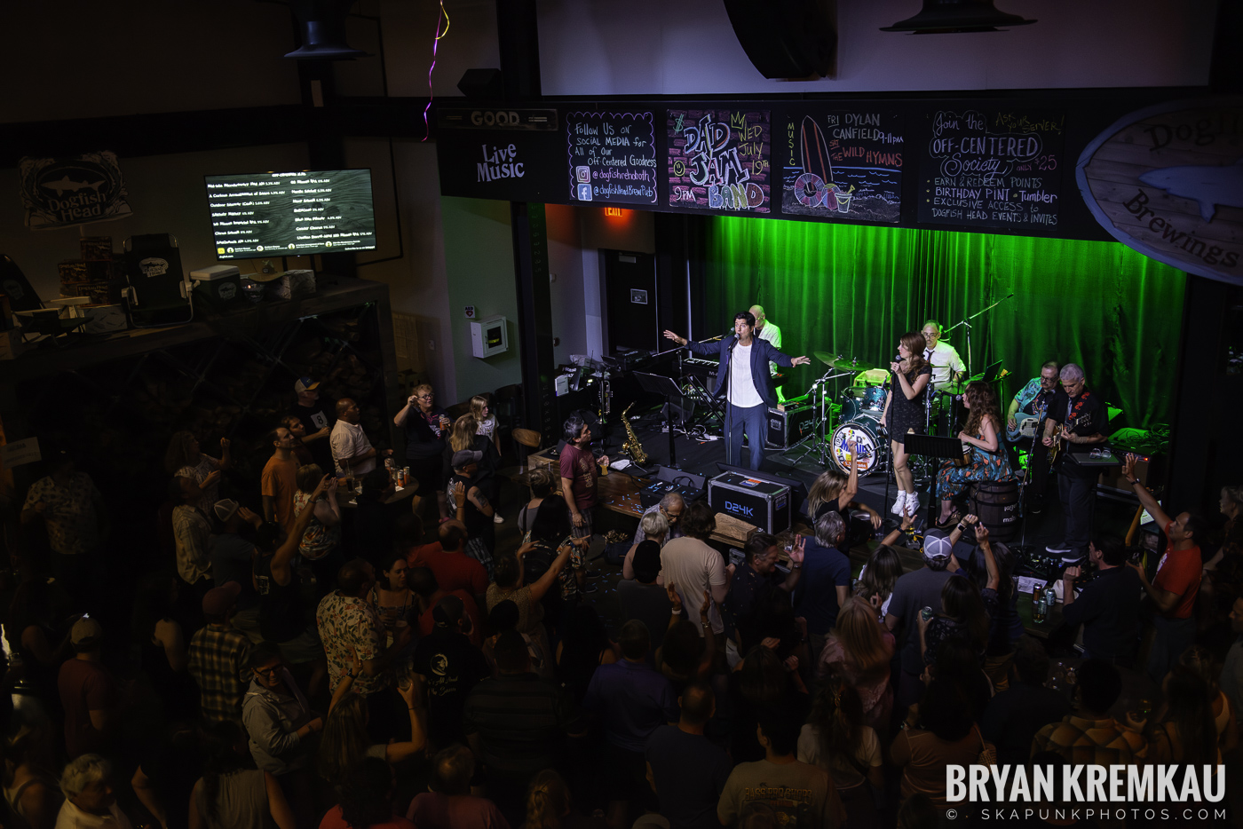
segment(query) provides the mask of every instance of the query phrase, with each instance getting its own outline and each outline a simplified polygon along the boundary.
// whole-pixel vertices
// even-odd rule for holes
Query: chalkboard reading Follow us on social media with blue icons
[[[567,112],[571,201],[656,204],[651,112]]]

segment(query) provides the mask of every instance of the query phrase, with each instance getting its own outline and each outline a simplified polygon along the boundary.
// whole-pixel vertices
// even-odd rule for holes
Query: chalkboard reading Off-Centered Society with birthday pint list
[[[940,109],[920,159],[920,221],[1012,227],[1058,224],[1065,116],[1017,108]]]

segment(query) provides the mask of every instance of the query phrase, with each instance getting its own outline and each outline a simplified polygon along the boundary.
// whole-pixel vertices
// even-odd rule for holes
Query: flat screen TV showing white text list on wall
[[[219,260],[375,250],[369,169],[204,178]]]

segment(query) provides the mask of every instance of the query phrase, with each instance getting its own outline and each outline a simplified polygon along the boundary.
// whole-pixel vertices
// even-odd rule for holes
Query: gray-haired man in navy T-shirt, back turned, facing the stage
[[[794,590],[794,615],[807,619],[808,646],[819,654],[850,595],[850,558],[842,552],[846,524],[829,510],[815,520],[815,536],[800,537],[803,578]]]

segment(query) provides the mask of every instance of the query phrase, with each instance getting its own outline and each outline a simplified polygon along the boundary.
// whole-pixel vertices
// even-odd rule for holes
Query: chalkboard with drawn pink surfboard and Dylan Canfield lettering
[[[792,109],[784,118],[783,214],[897,224],[902,122],[879,108]]]

